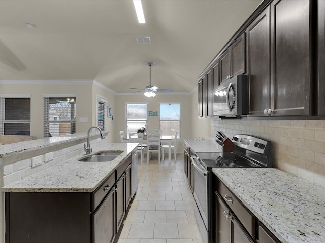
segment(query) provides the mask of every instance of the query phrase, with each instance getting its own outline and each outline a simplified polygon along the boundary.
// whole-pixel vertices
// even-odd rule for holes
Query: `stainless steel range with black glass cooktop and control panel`
[[[245,134],[238,134],[230,141],[222,132],[220,135],[217,135],[219,144],[231,145],[231,152],[198,152],[191,156],[194,166],[193,195],[197,205],[194,213],[204,242],[207,243],[212,242],[213,224],[211,169],[213,167],[273,167],[270,141]],[[230,150],[223,149],[223,151]]]

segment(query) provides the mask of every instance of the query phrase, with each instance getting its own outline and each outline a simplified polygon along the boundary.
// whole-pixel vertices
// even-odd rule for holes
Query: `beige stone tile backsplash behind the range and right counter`
[[[212,119],[212,138],[218,130],[271,140],[276,168],[325,187],[325,121]]]

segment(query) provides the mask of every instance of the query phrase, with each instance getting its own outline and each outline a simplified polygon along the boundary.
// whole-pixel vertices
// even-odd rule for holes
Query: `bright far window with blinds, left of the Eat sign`
[[[139,128],[147,127],[147,103],[125,104],[125,133],[135,133]]]

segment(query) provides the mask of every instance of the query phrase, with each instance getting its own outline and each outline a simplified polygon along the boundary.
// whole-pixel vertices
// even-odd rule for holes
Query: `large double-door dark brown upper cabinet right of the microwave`
[[[309,0],[275,0],[249,25],[249,116],[311,115]]]

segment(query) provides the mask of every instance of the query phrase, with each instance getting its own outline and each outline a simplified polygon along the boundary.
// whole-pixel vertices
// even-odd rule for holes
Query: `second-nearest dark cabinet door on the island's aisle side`
[[[116,233],[120,228],[125,214],[125,177],[116,182]]]

